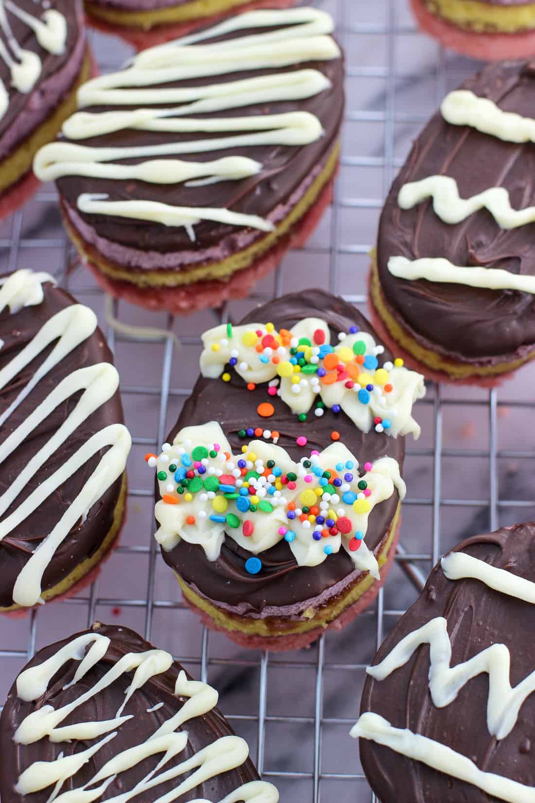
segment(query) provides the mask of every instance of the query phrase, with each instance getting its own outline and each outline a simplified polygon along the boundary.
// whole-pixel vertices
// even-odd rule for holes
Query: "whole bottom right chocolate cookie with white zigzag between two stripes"
[[[436,565],[369,667],[352,731],[382,803],[533,795],[534,605],[533,522]]]

